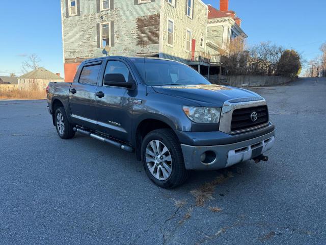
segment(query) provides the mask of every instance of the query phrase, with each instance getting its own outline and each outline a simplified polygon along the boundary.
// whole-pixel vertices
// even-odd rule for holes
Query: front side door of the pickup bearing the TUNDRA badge
[[[106,74],[122,74],[125,81],[134,81],[129,65],[119,59],[106,61],[96,96],[97,130],[121,141],[131,141],[133,100],[137,89],[119,86],[106,86],[103,79]]]

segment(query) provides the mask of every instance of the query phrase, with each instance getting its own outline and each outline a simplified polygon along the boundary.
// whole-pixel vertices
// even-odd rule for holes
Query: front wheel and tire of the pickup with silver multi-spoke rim
[[[155,152],[157,145],[159,150]],[[142,141],[141,153],[145,173],[156,185],[172,189],[188,178],[180,142],[171,129],[148,133]]]

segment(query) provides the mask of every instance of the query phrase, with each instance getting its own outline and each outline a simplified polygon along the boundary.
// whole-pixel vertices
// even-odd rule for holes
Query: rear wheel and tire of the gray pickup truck
[[[68,121],[65,109],[59,107],[55,113],[55,125],[57,133],[62,139],[71,139],[75,136],[75,131],[73,131],[73,125]]]

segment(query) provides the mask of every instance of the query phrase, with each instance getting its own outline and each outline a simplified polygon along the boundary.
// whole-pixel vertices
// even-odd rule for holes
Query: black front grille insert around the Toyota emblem
[[[257,113],[257,120],[251,119],[251,114]],[[257,106],[249,108],[241,108],[233,111],[231,131],[246,130],[257,127],[268,122],[267,106]]]

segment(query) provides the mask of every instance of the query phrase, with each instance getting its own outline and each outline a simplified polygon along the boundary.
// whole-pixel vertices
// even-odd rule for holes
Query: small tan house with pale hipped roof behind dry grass
[[[60,73],[53,73],[43,67],[30,71],[18,78],[19,89],[45,89],[49,82],[64,82]]]

